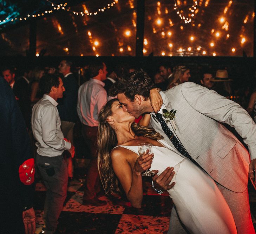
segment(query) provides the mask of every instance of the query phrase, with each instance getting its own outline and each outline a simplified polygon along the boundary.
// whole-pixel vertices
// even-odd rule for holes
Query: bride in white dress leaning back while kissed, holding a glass
[[[117,99],[99,114],[98,168],[107,194],[125,192],[132,206],[143,199],[142,172],[162,173],[168,166],[176,172],[168,190],[180,220],[190,233],[237,233],[231,211],[214,180],[166,143],[155,130],[134,123]],[[138,155],[138,144],[149,142],[153,154]]]

